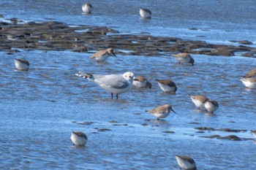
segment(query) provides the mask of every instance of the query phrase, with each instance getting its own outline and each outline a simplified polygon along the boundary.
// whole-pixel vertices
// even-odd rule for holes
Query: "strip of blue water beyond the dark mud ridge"
[[[122,33],[147,32],[222,43],[230,40],[255,42],[255,1],[102,1],[91,2],[91,15],[83,15],[84,1],[7,1],[1,14],[20,20],[57,20],[74,25],[108,26]],[[139,8],[151,9],[151,20],[141,20]],[[191,30],[190,28],[196,28]]]

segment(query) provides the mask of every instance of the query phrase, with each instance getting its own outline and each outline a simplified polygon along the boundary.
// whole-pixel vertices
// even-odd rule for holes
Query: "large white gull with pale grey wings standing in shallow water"
[[[127,91],[132,89],[132,80],[134,77],[134,74],[132,72],[109,75],[87,74],[84,72],[78,72],[78,74],[75,75],[95,82],[101,88],[108,90],[111,93],[111,98],[113,98],[113,93],[115,93],[116,98],[118,98],[118,94],[126,93]]]

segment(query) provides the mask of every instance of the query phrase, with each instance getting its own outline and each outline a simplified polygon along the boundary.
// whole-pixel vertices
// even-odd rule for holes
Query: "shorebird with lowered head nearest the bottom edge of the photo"
[[[181,167],[181,169],[185,170],[196,170],[197,166],[195,166],[195,161],[193,158],[189,156],[181,156],[181,155],[175,155],[176,160],[178,162],[178,166]]]

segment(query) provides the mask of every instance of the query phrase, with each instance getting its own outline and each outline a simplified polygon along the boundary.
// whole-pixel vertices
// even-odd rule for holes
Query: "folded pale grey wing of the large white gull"
[[[94,82],[109,85],[112,88],[127,88],[129,82],[122,75],[110,74],[105,76],[94,75]]]

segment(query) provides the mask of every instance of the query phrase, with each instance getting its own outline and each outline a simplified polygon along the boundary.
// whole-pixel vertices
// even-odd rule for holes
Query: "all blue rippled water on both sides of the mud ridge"
[[[184,39],[255,42],[253,1],[240,3],[239,7],[238,1],[160,2],[94,1],[92,15],[82,14],[83,1],[0,4],[5,19],[57,20],[138,34],[147,31]],[[152,10],[151,20],[140,20],[140,6]],[[192,27],[198,30],[189,30]],[[255,69],[255,58],[238,53],[232,57],[192,55],[195,66],[181,66],[167,55],[117,55],[105,63],[92,61],[90,55],[69,51],[0,52],[0,169],[178,169],[176,154],[192,156],[198,169],[255,169],[256,145],[250,130],[256,129],[256,90],[244,88],[239,80],[249,69]],[[30,61],[29,72],[15,71],[14,58]],[[110,93],[93,82],[75,77],[78,71],[130,71],[146,76],[152,88],[132,89],[111,99]],[[156,79],[176,82],[176,95],[162,93]],[[219,102],[214,115],[192,104],[189,95],[199,94]],[[156,120],[145,112],[162,104],[172,104],[177,114]],[[203,126],[244,131],[196,129]],[[86,147],[72,147],[72,131],[87,134]],[[243,140],[201,137],[217,134],[236,135]]]

